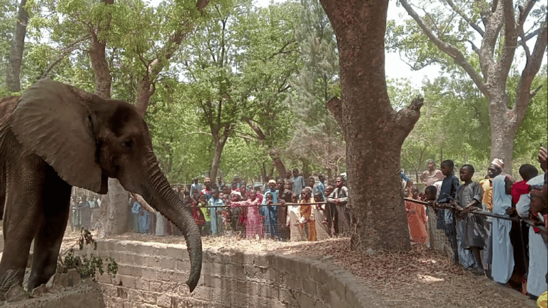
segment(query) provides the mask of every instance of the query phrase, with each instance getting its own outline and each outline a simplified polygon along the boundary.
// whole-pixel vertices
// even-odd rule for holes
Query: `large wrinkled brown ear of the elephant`
[[[96,158],[89,107],[98,96],[41,80],[25,91],[9,118],[15,137],[53,167],[66,183],[107,193],[108,177]]]

